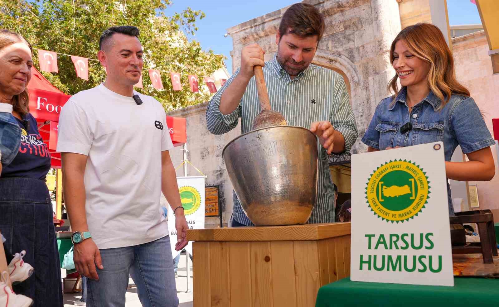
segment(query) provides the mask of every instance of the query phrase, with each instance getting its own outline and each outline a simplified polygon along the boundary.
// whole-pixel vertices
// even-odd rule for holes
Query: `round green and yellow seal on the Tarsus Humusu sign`
[[[419,165],[407,160],[381,164],[366,186],[368,207],[387,222],[414,219],[428,203],[428,177]]]

